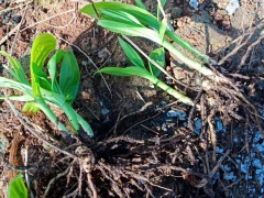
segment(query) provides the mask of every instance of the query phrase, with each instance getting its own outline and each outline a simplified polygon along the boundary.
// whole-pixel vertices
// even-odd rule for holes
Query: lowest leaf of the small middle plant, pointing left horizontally
[[[151,74],[141,67],[105,67],[99,69],[97,73],[113,75],[113,76],[140,76],[143,78],[152,78]]]

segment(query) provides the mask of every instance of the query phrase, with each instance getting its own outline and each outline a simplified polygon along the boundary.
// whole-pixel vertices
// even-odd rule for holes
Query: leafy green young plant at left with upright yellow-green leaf
[[[9,96],[8,98],[25,101],[23,108],[25,113],[43,111],[64,138],[70,135],[70,132],[65,124],[58,121],[47,103],[65,112],[77,134],[85,131],[92,136],[90,125],[72,107],[78,92],[80,79],[79,67],[74,53],[70,51],[56,51],[47,63],[48,74],[44,72],[45,62],[51,53],[55,51],[55,47],[56,38],[52,34],[43,33],[34,40],[30,63],[31,84],[21,64],[8,53],[0,51],[0,54],[6,56],[11,64],[11,68],[7,66],[4,68],[13,78],[0,77],[0,87],[21,91],[22,96]],[[6,96],[1,96],[0,99],[6,99]]]

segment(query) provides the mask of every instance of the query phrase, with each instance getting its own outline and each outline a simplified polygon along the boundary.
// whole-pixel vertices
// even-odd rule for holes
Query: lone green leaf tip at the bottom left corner
[[[19,174],[14,177],[8,188],[8,197],[9,198],[28,198],[28,189],[25,187],[23,177]]]

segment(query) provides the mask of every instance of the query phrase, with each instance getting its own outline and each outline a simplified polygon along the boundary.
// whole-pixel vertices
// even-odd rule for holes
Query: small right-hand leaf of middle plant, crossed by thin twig
[[[165,66],[165,50],[164,47],[156,48],[151,52],[150,57],[155,61],[160,66],[164,67]],[[161,70],[153,65],[151,62],[148,62],[150,70],[152,75],[155,77],[158,77],[161,74]]]

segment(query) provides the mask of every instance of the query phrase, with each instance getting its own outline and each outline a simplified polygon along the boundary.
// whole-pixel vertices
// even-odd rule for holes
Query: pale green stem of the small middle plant
[[[178,99],[180,102],[186,103],[188,106],[194,106],[194,101],[189,97],[183,95],[178,90],[173,89],[172,87],[169,87],[168,85],[166,85],[162,80],[157,79],[156,77],[148,78],[148,79],[154,85],[156,85],[161,89],[165,90],[167,94],[172,95],[174,98]]]

